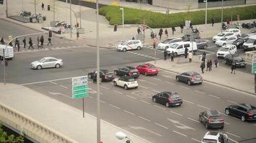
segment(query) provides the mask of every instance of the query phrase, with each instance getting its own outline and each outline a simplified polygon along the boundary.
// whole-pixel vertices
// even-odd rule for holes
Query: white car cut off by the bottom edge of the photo
[[[221,132],[206,132],[201,143],[227,143],[228,140],[227,134]]]

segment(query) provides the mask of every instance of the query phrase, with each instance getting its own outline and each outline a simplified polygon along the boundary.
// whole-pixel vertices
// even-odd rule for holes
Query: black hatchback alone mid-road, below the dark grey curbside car
[[[176,92],[160,92],[152,97],[153,102],[164,104],[166,107],[180,106],[183,100]]]

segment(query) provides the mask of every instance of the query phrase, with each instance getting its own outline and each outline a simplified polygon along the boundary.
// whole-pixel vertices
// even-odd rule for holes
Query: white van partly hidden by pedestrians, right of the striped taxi
[[[196,42],[191,41],[178,41],[173,43],[166,51],[168,54],[174,53],[174,56],[178,56],[180,54],[185,54],[185,48],[188,48],[188,51],[193,51],[196,53],[197,46]]]

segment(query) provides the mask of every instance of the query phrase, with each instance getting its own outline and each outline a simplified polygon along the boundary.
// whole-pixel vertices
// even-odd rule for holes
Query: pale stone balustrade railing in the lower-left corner
[[[50,127],[47,127],[40,122],[35,121],[35,119],[30,119],[24,114],[15,111],[11,107],[0,103],[0,121],[7,125],[7,127],[12,127],[16,132],[19,132],[24,137],[33,139],[35,142],[40,143],[77,143],[69,137],[56,132]]]

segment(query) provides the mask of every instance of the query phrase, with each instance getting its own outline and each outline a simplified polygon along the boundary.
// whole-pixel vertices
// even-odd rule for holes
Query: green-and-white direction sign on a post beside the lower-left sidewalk
[[[88,77],[72,78],[72,97],[73,99],[83,98],[83,117],[84,117],[84,97],[88,97]]]

